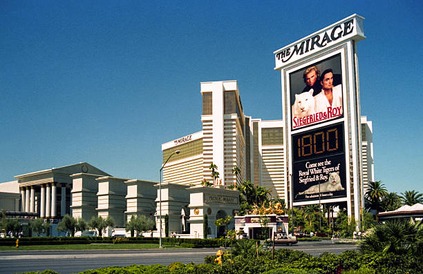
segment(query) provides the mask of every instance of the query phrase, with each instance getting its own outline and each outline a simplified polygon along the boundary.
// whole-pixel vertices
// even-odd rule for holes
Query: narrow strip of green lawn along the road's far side
[[[163,248],[185,248],[162,244]],[[158,248],[158,244],[63,244],[42,246],[0,246],[0,251],[48,251],[48,250],[86,250],[86,249],[148,249]]]

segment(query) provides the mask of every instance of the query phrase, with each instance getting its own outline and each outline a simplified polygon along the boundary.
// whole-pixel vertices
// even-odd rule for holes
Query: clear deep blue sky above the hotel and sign
[[[77,162],[158,181],[161,144],[202,129],[200,81],[281,119],[274,50],[357,13],[375,177],[423,193],[422,2],[295,2],[1,1],[0,182]]]

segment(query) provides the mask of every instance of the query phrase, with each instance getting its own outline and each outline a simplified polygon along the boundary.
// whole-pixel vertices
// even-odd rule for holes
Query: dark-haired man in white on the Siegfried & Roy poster
[[[329,107],[339,108],[339,115],[342,114],[342,86],[333,86],[332,69],[322,72],[320,77],[321,92],[314,97],[316,112],[326,112]]]

